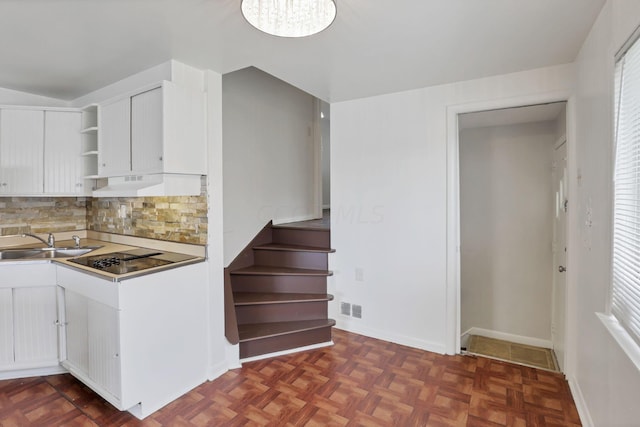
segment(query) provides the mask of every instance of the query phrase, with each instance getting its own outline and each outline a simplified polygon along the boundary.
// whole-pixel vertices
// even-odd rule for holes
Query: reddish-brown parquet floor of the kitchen
[[[332,347],[246,363],[139,421],[70,375],[0,381],[0,425],[578,426],[562,374],[334,330]]]

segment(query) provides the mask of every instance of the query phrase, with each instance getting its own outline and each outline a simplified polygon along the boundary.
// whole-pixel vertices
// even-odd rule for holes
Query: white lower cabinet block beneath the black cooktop
[[[58,266],[62,365],[138,418],[207,380],[206,264],[112,281]]]

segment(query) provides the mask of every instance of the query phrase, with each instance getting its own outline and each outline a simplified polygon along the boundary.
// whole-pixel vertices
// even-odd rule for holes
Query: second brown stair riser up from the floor
[[[327,301],[236,307],[238,325],[327,318]]]

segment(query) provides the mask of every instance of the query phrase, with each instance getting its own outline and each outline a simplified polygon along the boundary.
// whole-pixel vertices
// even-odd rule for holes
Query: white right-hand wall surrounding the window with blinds
[[[571,268],[578,289],[570,295],[577,306],[575,395],[593,425],[606,427],[640,422],[640,372],[595,315],[605,311],[611,283],[614,53],[638,24],[640,2],[609,1],[576,60],[578,241],[577,265]]]

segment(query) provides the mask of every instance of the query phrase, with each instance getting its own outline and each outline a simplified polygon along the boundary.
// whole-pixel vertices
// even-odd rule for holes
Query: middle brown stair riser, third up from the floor
[[[233,292],[273,292],[324,294],[325,276],[231,276]]]

